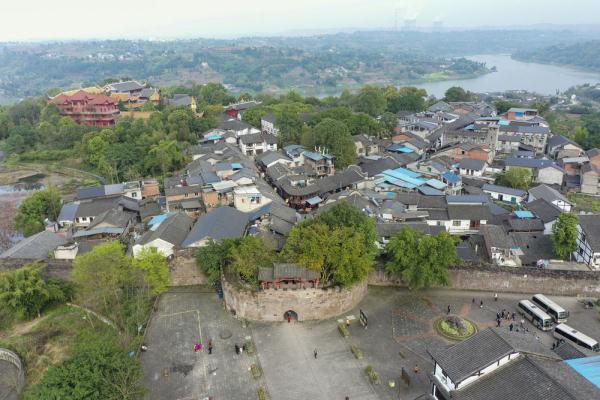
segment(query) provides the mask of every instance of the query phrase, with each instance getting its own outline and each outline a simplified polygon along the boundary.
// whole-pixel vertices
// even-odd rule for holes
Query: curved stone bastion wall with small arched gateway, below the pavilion
[[[367,294],[367,283],[349,289],[267,289],[259,292],[239,290],[222,280],[227,309],[255,321],[283,321],[294,311],[298,321],[322,320],[352,310]]]

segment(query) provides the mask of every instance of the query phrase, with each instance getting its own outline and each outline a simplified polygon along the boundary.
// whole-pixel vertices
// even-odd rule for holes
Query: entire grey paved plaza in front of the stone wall
[[[470,319],[481,330],[496,325],[497,312],[516,312],[518,301],[525,298],[531,295],[500,293],[495,301],[489,292],[431,290],[415,294],[401,288],[370,287],[355,310],[336,319],[282,320],[243,327],[224,311],[212,291],[178,289],[163,295],[148,330],[149,350],[142,356],[148,398],[255,399],[263,386],[272,400],[417,399],[430,389],[427,373],[433,365],[427,350],[452,344],[433,330],[434,321],[447,314],[448,306],[451,314]],[[576,298],[551,298],[571,312],[571,326],[600,338],[597,310],[584,309]],[[359,310],[367,316],[366,329],[357,321]],[[337,330],[346,317],[352,321],[349,338]],[[517,316],[516,324],[519,320]],[[508,324],[502,326],[508,330]],[[528,332],[514,334],[531,335],[541,345],[551,346],[550,332],[539,331],[528,321],[525,325]],[[203,343],[212,338],[214,354],[194,353],[197,338]],[[245,338],[253,339],[256,355],[234,354],[234,344]],[[363,351],[363,359],[353,356],[351,345]],[[259,380],[249,372],[253,363],[263,369]],[[367,379],[364,369],[368,364],[380,374],[381,384],[372,385]],[[410,385],[401,379],[403,369]]]

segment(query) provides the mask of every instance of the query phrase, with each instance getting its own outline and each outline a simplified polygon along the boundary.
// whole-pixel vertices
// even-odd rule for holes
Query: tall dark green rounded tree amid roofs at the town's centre
[[[314,127],[313,136],[316,146],[335,156],[338,168],[346,168],[356,160],[356,145],[343,122],[325,118]]]

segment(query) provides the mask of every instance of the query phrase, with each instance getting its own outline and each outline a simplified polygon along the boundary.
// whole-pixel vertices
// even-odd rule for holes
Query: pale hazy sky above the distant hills
[[[419,26],[598,24],[598,0],[1,0],[0,41],[235,37]]]

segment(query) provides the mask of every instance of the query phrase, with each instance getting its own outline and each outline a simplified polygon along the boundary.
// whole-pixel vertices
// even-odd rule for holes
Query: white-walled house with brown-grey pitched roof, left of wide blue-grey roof
[[[150,248],[155,248],[165,257],[172,256],[181,247],[193,224],[194,220],[185,213],[171,215],[136,241],[132,248],[133,257],[138,257],[144,249]]]

